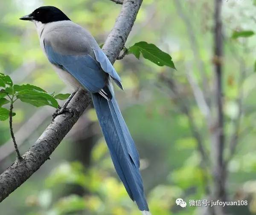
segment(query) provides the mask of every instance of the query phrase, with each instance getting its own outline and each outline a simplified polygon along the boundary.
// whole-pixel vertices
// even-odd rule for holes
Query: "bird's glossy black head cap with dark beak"
[[[31,14],[21,17],[20,20],[35,20],[45,24],[70,19],[56,7],[43,6],[35,9]]]

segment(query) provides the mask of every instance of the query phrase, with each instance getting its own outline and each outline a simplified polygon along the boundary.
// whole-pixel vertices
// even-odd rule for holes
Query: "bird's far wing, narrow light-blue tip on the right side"
[[[115,83],[121,89],[123,89],[122,84],[121,84],[121,78],[117,74],[117,72],[116,72],[115,68],[113,67],[113,65],[111,64],[111,62],[108,60],[108,57],[105,55],[105,53],[102,52],[101,49],[93,49],[93,52],[95,54],[96,60],[100,63],[100,66],[102,67],[102,69],[113,78]]]

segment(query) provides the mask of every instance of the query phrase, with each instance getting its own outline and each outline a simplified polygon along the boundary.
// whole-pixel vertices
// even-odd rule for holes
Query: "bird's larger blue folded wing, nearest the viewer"
[[[50,44],[44,47],[49,61],[73,75],[88,91],[96,93],[106,86],[108,75],[89,54],[60,54]]]

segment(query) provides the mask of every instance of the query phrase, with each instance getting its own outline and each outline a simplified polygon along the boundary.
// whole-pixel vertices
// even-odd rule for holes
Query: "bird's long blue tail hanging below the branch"
[[[113,94],[113,93],[112,93]],[[130,198],[141,211],[148,211],[148,204],[140,175],[140,159],[134,140],[125,124],[114,95],[106,100],[93,94],[93,104],[107,142],[113,164]],[[150,214],[148,212],[148,214]]]

